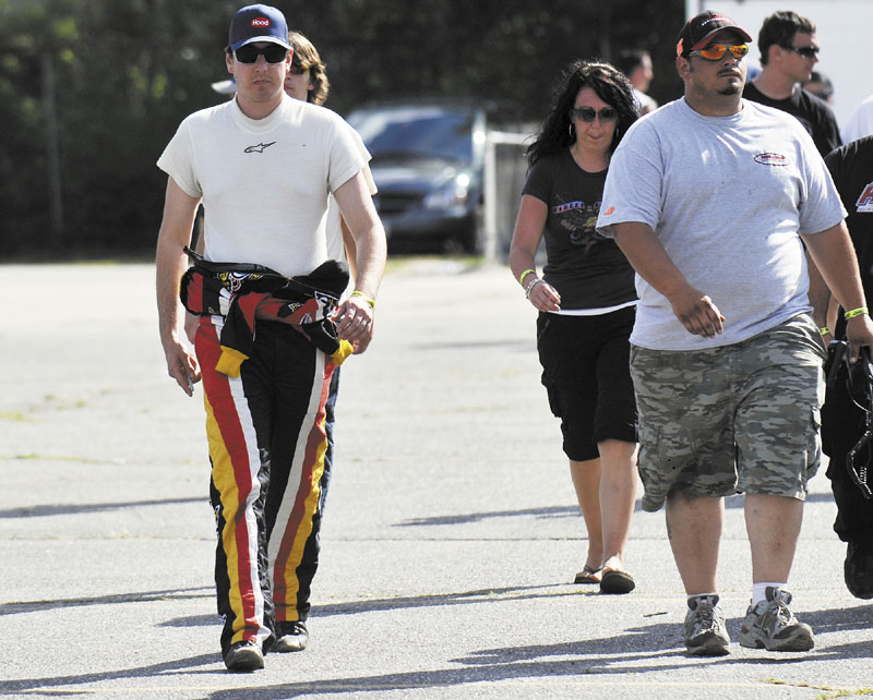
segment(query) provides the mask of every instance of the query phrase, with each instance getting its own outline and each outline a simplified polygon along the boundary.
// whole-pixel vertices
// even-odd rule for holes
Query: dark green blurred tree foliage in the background
[[[0,0],[0,255],[153,249],[166,186],[155,160],[188,113],[225,99],[211,83],[227,77],[227,25],[242,4]],[[328,107],[340,113],[436,95],[492,99],[507,117],[538,120],[564,64],[636,46],[653,52],[659,101],[681,87],[681,0],[275,4],[319,47]]]

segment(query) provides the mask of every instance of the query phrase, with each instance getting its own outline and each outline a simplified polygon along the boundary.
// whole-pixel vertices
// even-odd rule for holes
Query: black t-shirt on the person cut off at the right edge
[[[846,224],[861,268],[861,282],[868,303],[873,301],[873,136],[865,136],[838,148],[825,158],[842,206],[849,213]],[[841,333],[840,317],[835,333]]]

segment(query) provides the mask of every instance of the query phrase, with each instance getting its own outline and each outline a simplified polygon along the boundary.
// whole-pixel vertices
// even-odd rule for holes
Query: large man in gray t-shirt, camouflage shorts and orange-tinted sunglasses
[[[805,243],[847,311],[851,355],[873,325],[845,210],[793,118],[742,99],[748,32],[703,12],[677,40],[683,99],[634,124],[612,157],[598,231],[636,270],[631,370],[643,508],[667,505],[692,654],[728,653],[718,605],[723,496],[745,493],[752,604],[744,647],[805,651],[788,574],[820,461],[824,347]]]

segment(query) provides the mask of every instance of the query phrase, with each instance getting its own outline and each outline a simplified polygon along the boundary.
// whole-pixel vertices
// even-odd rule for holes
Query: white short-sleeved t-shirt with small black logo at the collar
[[[236,99],[194,112],[157,165],[203,198],[206,260],[266,265],[291,277],[327,260],[327,196],[368,160],[338,114],[284,95],[260,120],[246,117]]]

